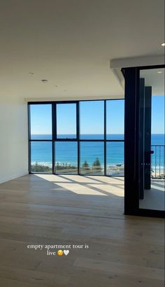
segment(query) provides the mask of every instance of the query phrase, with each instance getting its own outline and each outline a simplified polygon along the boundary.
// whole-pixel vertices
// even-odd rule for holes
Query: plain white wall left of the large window
[[[0,95],[0,183],[27,173],[27,103]]]

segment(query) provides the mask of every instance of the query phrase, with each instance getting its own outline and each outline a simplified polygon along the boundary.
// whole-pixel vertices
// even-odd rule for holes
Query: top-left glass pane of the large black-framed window
[[[31,139],[52,139],[52,105],[30,105]]]

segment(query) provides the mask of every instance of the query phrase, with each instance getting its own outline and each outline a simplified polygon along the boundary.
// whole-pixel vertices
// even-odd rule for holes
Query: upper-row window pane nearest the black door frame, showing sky
[[[106,101],[106,139],[124,139],[124,99]]]

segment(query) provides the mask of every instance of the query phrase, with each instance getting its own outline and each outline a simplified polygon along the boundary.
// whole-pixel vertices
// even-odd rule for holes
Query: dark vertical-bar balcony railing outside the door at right
[[[165,178],[165,145],[152,145],[154,153],[151,155],[151,177],[155,179]]]

